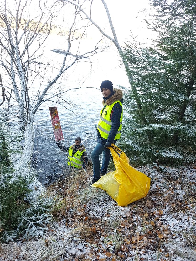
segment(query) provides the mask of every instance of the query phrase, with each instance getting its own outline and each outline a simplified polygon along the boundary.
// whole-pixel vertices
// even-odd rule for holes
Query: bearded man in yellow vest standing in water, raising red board
[[[88,159],[84,145],[81,143],[82,139],[80,137],[75,138],[75,144],[65,147],[60,141],[56,144],[58,147],[65,152],[68,152],[68,166],[76,169],[86,169]]]

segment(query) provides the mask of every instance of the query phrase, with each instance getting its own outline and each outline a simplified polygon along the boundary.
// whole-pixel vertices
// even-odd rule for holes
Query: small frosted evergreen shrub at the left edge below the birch
[[[32,191],[29,184],[35,171],[25,168],[15,170],[9,162],[9,153],[14,153],[9,140],[6,121],[0,117],[0,241],[13,242],[19,237],[43,237],[50,223],[50,208],[53,200],[40,197],[29,202]]]

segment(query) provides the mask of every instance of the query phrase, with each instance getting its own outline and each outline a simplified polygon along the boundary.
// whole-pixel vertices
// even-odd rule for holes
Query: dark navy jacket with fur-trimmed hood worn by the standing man
[[[114,92],[112,92],[108,97],[103,97],[103,105],[104,108],[106,105],[111,105],[113,102],[120,100],[121,103],[123,103],[123,99],[122,99],[122,90],[121,89],[114,89]],[[102,111],[104,111],[104,108]],[[110,129],[110,133],[108,135],[107,140],[112,142],[112,143],[116,143],[116,140],[114,140],[116,133],[120,127],[120,118],[121,118],[121,113],[122,113],[122,106],[120,105],[119,102],[115,103],[113,108],[112,108],[112,112],[110,114],[110,119],[112,122],[111,125],[111,129]],[[103,139],[104,143],[106,143],[106,139]],[[97,137],[97,142],[98,143],[103,143],[101,138]]]

